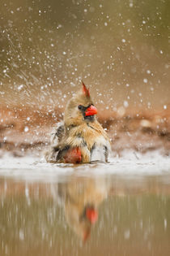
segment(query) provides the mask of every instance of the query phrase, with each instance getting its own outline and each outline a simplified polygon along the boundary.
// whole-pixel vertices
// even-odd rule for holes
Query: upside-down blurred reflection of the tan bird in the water
[[[107,194],[104,179],[77,178],[68,184],[59,184],[58,196],[64,206],[66,221],[83,241],[90,236],[98,219],[98,206]]]

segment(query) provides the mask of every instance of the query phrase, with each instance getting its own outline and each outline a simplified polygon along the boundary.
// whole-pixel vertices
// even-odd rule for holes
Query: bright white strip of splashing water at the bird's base
[[[53,180],[54,177],[116,175],[164,175],[170,174],[170,157],[159,152],[137,154],[124,152],[121,157],[110,158],[109,163],[64,164],[45,163],[43,158],[14,158],[5,155],[0,159],[0,176],[25,180]]]

